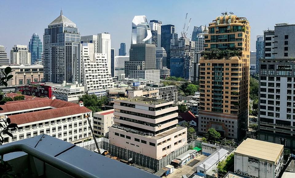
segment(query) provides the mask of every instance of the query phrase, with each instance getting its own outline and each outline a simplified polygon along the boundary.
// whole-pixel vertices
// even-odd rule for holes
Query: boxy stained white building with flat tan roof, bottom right
[[[234,172],[247,177],[277,178],[284,146],[247,138],[234,151]]]

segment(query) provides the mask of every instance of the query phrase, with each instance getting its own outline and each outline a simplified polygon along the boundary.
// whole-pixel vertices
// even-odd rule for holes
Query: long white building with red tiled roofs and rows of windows
[[[83,102],[75,104],[53,97],[10,101],[1,105],[1,108],[2,116],[9,117],[11,123],[18,124],[17,129],[10,129],[13,138],[3,135],[4,143],[40,134],[48,134],[71,143],[92,139],[87,120],[88,117],[92,121],[92,112],[83,106]]]

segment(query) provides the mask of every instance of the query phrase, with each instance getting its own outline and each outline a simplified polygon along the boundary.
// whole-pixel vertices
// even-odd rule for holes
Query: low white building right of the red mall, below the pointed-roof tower
[[[85,94],[84,86],[77,81],[74,83],[66,83],[63,81],[62,85],[51,87],[51,93],[59,100],[76,102],[79,97]]]

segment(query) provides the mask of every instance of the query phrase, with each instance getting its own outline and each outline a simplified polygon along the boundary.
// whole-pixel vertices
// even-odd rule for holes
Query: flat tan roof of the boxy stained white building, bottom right
[[[280,144],[247,138],[238,146],[234,153],[277,162],[283,149],[284,146]]]

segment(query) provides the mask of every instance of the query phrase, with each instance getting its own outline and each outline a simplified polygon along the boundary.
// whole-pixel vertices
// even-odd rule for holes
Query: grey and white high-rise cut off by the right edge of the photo
[[[258,138],[294,149],[295,24],[264,31],[264,59],[259,59]],[[292,91],[293,90],[293,91]]]

